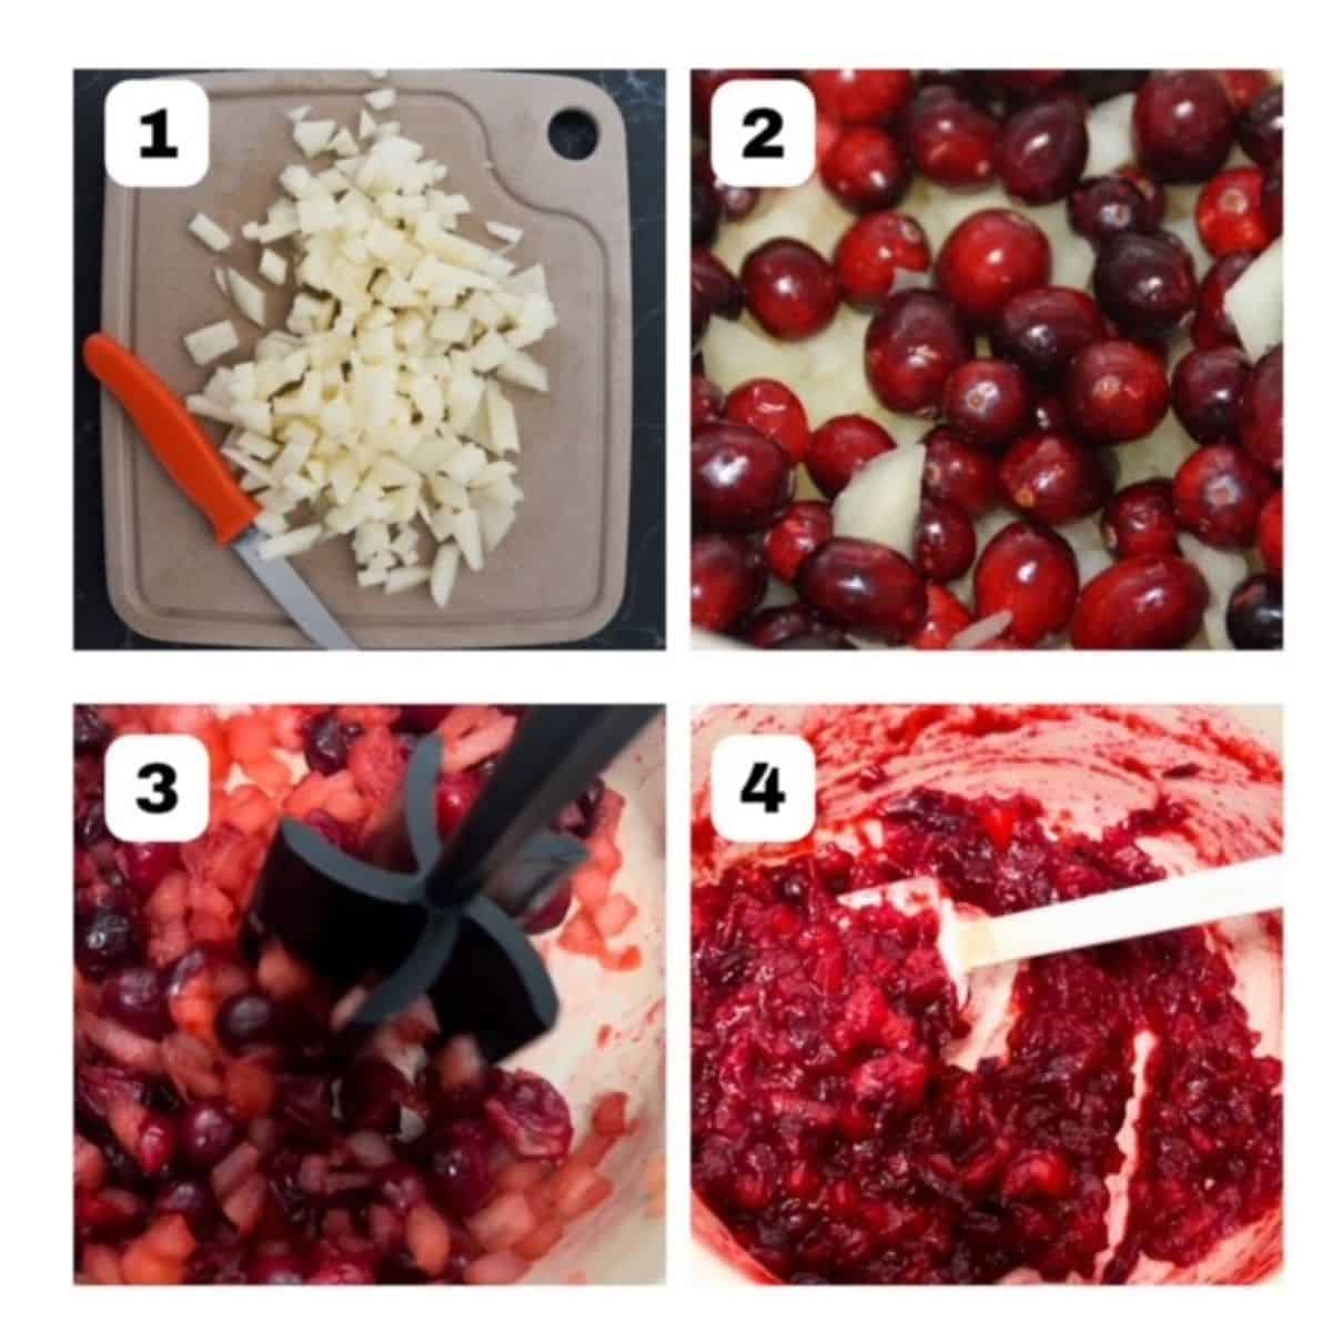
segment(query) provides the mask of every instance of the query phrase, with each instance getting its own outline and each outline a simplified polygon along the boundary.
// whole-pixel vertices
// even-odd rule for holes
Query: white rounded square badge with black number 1
[[[107,93],[107,174],[131,189],[182,189],[208,174],[208,93],[189,79],[127,79]]]

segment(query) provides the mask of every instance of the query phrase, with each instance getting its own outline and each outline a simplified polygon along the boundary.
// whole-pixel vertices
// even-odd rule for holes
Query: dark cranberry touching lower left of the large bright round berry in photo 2
[[[898,292],[864,334],[864,373],[890,412],[928,416],[975,341],[956,305],[938,292]]]

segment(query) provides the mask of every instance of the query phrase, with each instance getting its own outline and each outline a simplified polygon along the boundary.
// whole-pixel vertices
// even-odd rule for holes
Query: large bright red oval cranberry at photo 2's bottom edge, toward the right
[[[1130,555],[1078,598],[1068,638],[1092,650],[1183,647],[1203,626],[1207,582],[1179,555]]]

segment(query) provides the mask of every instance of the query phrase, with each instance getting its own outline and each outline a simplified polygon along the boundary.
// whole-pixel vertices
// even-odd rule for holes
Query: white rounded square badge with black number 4
[[[713,827],[727,842],[814,831],[814,750],[799,735],[727,735],[713,750]]]

